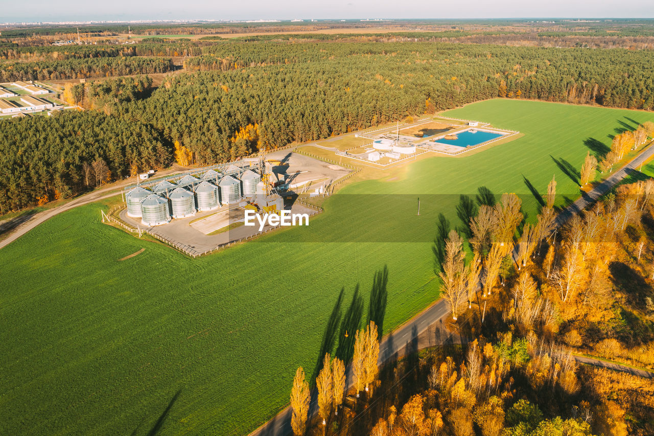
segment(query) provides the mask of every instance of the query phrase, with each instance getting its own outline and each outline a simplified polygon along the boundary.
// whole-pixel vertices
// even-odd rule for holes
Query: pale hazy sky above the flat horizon
[[[0,22],[654,18],[653,0],[0,0]]]

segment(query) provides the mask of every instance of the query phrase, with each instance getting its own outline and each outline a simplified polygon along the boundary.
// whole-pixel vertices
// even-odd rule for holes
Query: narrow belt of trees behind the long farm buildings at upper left
[[[0,63],[0,82],[166,73],[172,69],[174,69],[174,65],[170,58],[136,56],[44,62],[2,62]]]

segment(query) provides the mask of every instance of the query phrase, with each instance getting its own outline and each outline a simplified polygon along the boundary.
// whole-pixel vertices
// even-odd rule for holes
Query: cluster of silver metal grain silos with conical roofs
[[[143,225],[156,226],[168,223],[171,218],[190,217],[197,211],[212,210],[220,204],[234,204],[243,197],[254,196],[261,176],[245,170],[239,179],[209,170],[202,180],[185,175],[177,183],[164,180],[152,191],[135,187],[126,195],[127,214],[140,217]]]

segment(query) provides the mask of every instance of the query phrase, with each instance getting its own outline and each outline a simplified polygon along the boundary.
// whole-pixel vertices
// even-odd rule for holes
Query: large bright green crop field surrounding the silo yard
[[[543,193],[556,174],[559,202],[572,200],[579,191],[553,158],[579,168],[584,141],[598,149],[621,122],[654,120],[516,100],[446,115],[525,136],[353,183],[308,228],[209,257],[188,259],[103,225],[98,204],[0,250],[0,433],[141,435],[169,406],[162,434],[249,433],[286,405],[296,367],[313,371],[341,287],[343,312],[357,283],[366,312],[373,274],[388,265],[385,331],[438,297],[430,240],[439,211],[456,224],[458,194],[481,185],[525,194],[533,218],[525,178]]]

